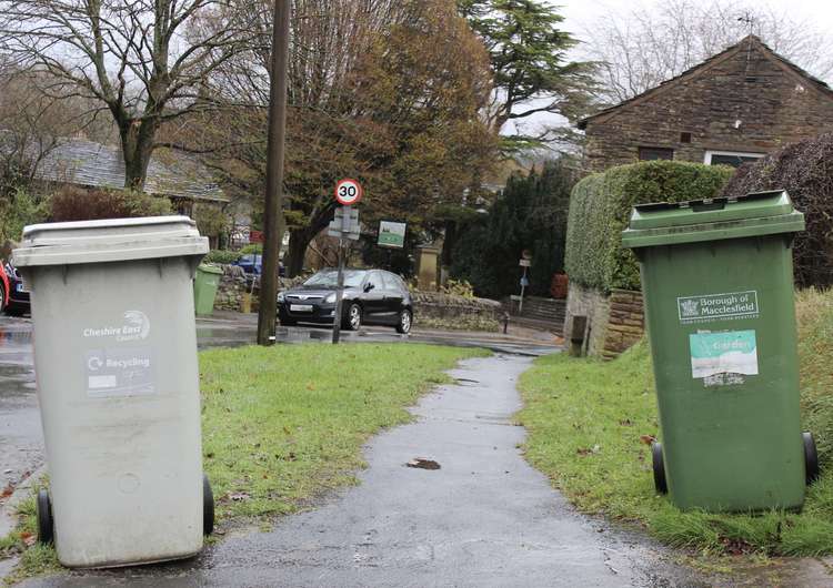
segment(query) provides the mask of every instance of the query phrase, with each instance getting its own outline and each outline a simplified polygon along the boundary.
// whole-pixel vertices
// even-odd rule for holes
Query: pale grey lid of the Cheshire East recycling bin
[[[16,267],[34,267],[201,256],[208,249],[188,216],[148,216],[29,225],[13,258]]]

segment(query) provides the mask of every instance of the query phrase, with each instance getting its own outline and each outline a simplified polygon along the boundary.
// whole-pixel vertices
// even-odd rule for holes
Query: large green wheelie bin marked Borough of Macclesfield
[[[679,508],[799,509],[819,474],[802,433],[786,192],[634,207],[662,445],[654,483]]]

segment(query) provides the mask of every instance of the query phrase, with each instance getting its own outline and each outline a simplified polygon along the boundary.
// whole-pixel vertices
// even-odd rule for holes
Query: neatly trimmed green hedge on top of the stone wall
[[[603,292],[640,290],[636,257],[622,247],[633,205],[714,197],[733,172],[723,165],[648,161],[583,179],[570,197],[564,260],[570,281]]]

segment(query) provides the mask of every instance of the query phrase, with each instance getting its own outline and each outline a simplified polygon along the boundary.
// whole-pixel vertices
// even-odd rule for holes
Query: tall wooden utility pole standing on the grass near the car
[[[283,146],[287,136],[287,62],[291,0],[274,0],[271,79],[269,87],[269,144],[267,194],[263,209],[263,267],[260,275],[258,344],[274,344],[278,307],[278,257],[283,239]]]

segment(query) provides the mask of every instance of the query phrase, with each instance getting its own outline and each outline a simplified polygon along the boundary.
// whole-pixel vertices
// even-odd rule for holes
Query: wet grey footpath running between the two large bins
[[[639,535],[576,514],[518,448],[531,359],[470,359],[367,447],[361,484],[200,558],[26,582],[97,586],[706,586]],[[440,469],[405,464],[418,457]]]

